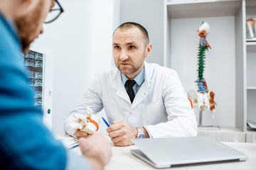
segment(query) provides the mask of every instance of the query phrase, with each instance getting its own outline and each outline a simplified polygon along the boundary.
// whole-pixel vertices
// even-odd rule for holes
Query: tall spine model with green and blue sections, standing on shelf
[[[188,91],[188,98],[193,103],[193,108],[198,108],[199,111],[210,111],[212,112],[212,118],[214,118],[216,103],[214,101],[213,91],[209,91],[206,79],[203,78],[203,71],[206,64],[205,52],[210,48],[206,40],[210,26],[207,22],[203,23],[198,29],[198,35],[200,36],[199,52],[198,52],[198,79],[195,81],[198,86],[198,90]],[[211,48],[210,48],[211,49]]]

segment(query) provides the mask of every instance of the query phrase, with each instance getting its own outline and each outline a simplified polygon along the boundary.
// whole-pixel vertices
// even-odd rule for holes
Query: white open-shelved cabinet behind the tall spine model
[[[207,39],[212,50],[206,52],[204,77],[208,89],[215,92],[218,108],[215,118],[204,113],[203,123],[220,129],[200,129],[198,135],[220,141],[256,142],[256,131],[247,130],[247,119],[256,121],[256,42],[246,41],[246,19],[255,17],[256,1],[170,0],[164,8],[164,60],[176,69],[185,91],[196,88],[196,29],[202,21],[210,24]]]

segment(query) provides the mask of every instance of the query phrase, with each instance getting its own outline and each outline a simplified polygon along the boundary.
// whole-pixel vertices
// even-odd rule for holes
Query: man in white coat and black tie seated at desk
[[[116,146],[132,145],[134,138],[196,136],[196,116],[178,74],[145,62],[151,49],[144,27],[138,23],[119,26],[113,34],[117,68],[95,77],[68,116],[65,132],[87,135],[71,128],[70,123],[74,113],[85,113],[90,107],[95,113],[105,108],[111,123],[107,132]]]

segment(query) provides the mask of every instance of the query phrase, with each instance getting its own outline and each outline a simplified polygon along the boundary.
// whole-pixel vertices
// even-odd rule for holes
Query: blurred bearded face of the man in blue
[[[55,0],[38,0],[38,4],[26,16],[16,18],[14,21],[21,38],[23,52],[27,52],[29,45],[43,33],[43,21]]]

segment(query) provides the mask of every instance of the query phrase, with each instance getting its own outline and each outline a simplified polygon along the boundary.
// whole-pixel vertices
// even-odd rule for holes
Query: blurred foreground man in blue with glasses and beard
[[[103,169],[112,156],[101,134],[79,140],[85,159],[65,150],[43,125],[42,111],[33,106],[33,90],[18,55],[43,33],[55,4],[60,6],[55,0],[0,0],[1,169]]]

